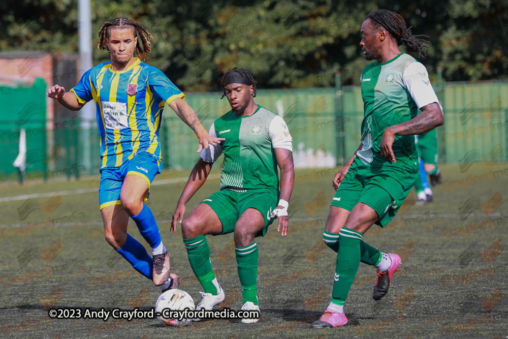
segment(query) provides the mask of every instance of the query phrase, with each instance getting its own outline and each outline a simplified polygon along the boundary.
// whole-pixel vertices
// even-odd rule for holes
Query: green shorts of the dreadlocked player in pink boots
[[[335,193],[332,206],[351,211],[362,202],[376,211],[376,224],[384,227],[397,214],[418,176],[418,163],[403,163],[383,166],[366,165],[358,158],[351,165]]]

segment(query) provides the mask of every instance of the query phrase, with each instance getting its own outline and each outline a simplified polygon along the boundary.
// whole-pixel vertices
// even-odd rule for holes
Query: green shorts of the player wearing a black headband
[[[202,203],[210,206],[217,214],[223,226],[221,234],[232,233],[235,230],[236,221],[247,208],[259,210],[265,220],[265,227],[261,236],[265,236],[268,226],[275,220],[275,218],[270,218],[270,215],[277,207],[278,199],[279,195],[268,189],[248,190],[242,193],[222,190],[213,193]]]

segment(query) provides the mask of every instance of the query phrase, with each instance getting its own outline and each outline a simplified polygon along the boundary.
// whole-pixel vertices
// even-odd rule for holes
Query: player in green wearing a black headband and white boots
[[[279,218],[277,231],[287,234],[288,201],[295,177],[292,138],[280,116],[254,102],[255,84],[244,69],[234,68],[224,75],[221,85],[232,110],[214,121],[210,135],[225,140],[202,153],[173,214],[171,232],[176,230],[179,220],[190,266],[204,289],[196,310],[211,310],[225,297],[212,272],[205,235],[234,232],[242,310],[259,311],[259,253],[254,238],[264,236],[276,217]],[[182,222],[185,203],[205,182],[221,153],[224,153],[224,165],[220,172],[220,191],[194,207]],[[256,321],[242,319],[247,323]]]

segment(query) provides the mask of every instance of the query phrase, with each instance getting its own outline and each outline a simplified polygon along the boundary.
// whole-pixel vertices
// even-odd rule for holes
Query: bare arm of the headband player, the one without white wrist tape
[[[207,163],[203,159],[199,159],[192,172],[190,172],[189,178],[185,187],[183,188],[183,192],[180,195],[180,199],[178,199],[178,203],[176,205],[175,212],[173,213],[173,221],[171,222],[171,230],[173,233],[176,231],[176,222],[178,221],[180,224],[182,223],[183,216],[185,215],[185,204],[194,196],[196,192],[203,186],[212,169],[213,163]]]

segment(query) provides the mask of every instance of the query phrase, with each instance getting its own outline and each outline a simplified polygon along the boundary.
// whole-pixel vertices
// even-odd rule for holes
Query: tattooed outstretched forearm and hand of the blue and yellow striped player
[[[201,152],[203,148],[208,148],[208,145],[210,144],[215,145],[220,143],[220,140],[226,140],[224,138],[210,136],[203,125],[201,125],[201,121],[192,107],[190,107],[182,98],[176,98],[170,102],[169,107],[175,111],[176,115],[178,115],[178,117],[182,119],[182,121],[185,122],[185,124],[187,124],[194,133],[196,133],[199,140],[198,153]]]

